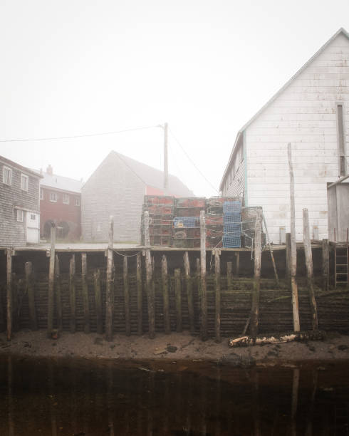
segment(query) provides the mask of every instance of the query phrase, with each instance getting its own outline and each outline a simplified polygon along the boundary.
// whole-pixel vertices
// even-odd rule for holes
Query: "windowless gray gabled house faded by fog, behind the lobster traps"
[[[108,241],[110,215],[114,217],[114,241],[140,242],[142,203],[145,195],[193,197],[177,177],[112,151],[81,190],[83,241]]]

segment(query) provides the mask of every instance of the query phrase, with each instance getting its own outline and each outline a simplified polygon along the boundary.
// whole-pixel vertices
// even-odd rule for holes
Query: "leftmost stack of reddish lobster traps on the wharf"
[[[145,195],[143,212],[149,212],[149,234],[151,246],[172,246],[172,222],[175,197]],[[142,243],[144,229],[142,226]]]

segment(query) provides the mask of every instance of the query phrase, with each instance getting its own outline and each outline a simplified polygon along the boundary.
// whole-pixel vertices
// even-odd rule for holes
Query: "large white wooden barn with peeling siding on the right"
[[[349,35],[343,28],[239,130],[224,170],[222,195],[262,206],[271,240],[289,232],[287,146],[291,143],[296,237],[302,209],[314,239],[345,241],[349,227]],[[330,187],[333,182],[342,181]]]

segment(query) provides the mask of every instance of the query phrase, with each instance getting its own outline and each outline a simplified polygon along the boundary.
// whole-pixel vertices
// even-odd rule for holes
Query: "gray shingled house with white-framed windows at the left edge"
[[[0,156],[0,246],[40,242],[38,172]]]

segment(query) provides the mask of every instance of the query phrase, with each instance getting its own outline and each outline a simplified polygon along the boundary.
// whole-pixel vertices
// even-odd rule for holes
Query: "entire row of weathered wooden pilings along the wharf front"
[[[309,237],[308,225],[308,211],[303,210],[304,222],[304,248],[306,254],[306,266],[308,276],[308,289],[312,309],[313,329],[318,328],[318,318],[316,310],[316,300],[313,289],[313,264],[311,255],[311,241]],[[258,210],[256,217],[256,239],[254,247],[254,282],[251,299],[251,316],[246,323],[244,331],[249,325],[250,335],[256,337],[259,327],[259,292],[260,292],[260,277],[261,277],[261,223],[262,214]],[[206,280],[206,232],[204,211],[200,216],[201,225],[201,249],[200,259],[197,259],[197,289],[199,289],[199,319],[200,319],[200,334],[202,340],[207,339],[207,280]],[[296,271],[291,269],[291,265],[295,265],[296,253],[291,250],[291,235],[286,235],[286,264],[290,271],[290,284],[292,291],[293,302],[293,328],[295,331],[300,330],[299,315],[298,315],[298,293],[296,283]],[[136,279],[137,279],[137,333],[142,334],[142,254],[145,256],[145,291],[147,297],[147,321],[148,331],[150,338],[155,337],[155,281],[154,281],[154,261],[151,255],[151,248],[149,246],[149,215],[145,213],[145,249],[139,251],[137,254],[136,262]],[[53,331],[54,313],[56,309],[56,323],[58,330],[62,329],[62,306],[61,306],[61,284],[60,276],[60,262],[56,254],[56,229],[51,229],[51,249],[49,253],[49,271],[48,271],[48,317],[47,317],[47,333],[51,336]],[[270,248],[270,246],[269,246]],[[271,257],[273,259],[272,250]],[[239,253],[239,252],[238,252]],[[7,338],[10,341],[12,335],[13,313],[12,304],[14,301],[12,289],[12,256],[13,251],[7,250],[7,286],[6,286],[6,303],[7,303]],[[221,269],[220,269],[220,250],[214,249],[212,255],[214,256],[214,335],[217,342],[221,341]],[[115,268],[114,268],[114,250],[113,250],[113,217],[110,217],[110,231],[107,255],[107,268],[106,268],[106,286],[105,286],[105,336],[108,341],[113,338],[113,313],[114,313],[114,281],[115,281]],[[194,301],[193,301],[193,281],[190,271],[189,254],[184,251],[184,274],[186,281],[186,294],[187,294],[187,310],[189,319],[189,328],[191,333],[194,333]],[[329,246],[328,240],[323,244],[323,265],[327,269],[325,275],[325,285],[328,286],[328,260],[329,260]],[[274,264],[275,266],[275,264]],[[162,303],[163,303],[163,318],[165,333],[170,333],[170,295],[169,295],[169,276],[167,274],[167,257],[165,254],[162,256]],[[231,262],[227,262],[227,284],[231,281]],[[176,329],[178,332],[182,331],[182,292],[181,292],[181,275],[180,270],[175,269],[175,308],[176,308]],[[278,275],[276,273],[276,282],[278,282]],[[293,275],[292,275],[293,274]],[[33,330],[37,328],[36,321],[36,306],[34,299],[34,286],[31,262],[25,264],[25,288],[28,294],[28,311],[30,318],[30,326]],[[100,286],[100,271],[96,270],[93,274],[94,291],[95,291],[95,316],[96,327],[98,333],[103,333],[103,303]],[[83,325],[85,333],[90,331],[90,313],[89,313],[89,299],[88,299],[88,281],[87,281],[87,256],[85,253],[81,254],[81,289],[82,289],[82,303],[83,303]],[[123,257],[123,294],[125,301],[125,333],[130,335],[130,289],[128,282],[128,256]],[[71,256],[69,264],[69,303],[71,306],[70,313],[70,331],[75,332],[75,255]]]

